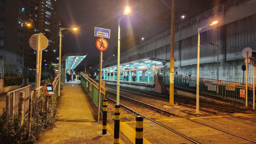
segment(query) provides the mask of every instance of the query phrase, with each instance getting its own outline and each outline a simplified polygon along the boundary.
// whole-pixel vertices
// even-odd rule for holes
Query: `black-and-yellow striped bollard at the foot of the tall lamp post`
[[[115,105],[114,144],[119,144],[120,105]]]

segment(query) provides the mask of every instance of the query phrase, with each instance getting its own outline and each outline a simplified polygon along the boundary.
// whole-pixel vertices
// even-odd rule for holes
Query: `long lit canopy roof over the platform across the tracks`
[[[151,67],[151,65],[156,66],[164,66],[167,62],[170,62],[170,60],[163,60],[159,58],[143,58],[140,60],[134,60],[127,63],[120,64],[120,69],[138,69],[140,67]],[[102,71],[110,72],[117,69],[117,65],[114,66],[108,66],[105,68],[102,68]],[[99,69],[98,69],[99,70]]]

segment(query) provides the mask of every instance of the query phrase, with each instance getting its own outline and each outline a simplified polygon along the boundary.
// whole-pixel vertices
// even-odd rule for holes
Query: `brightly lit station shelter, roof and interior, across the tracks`
[[[159,70],[161,75],[165,75],[164,68],[167,67],[165,66],[167,62],[170,62],[170,60],[163,60],[159,58],[143,58],[140,60],[122,63],[120,64],[120,81],[123,81],[124,75],[127,76],[127,74],[128,81],[132,81],[132,75],[135,72],[135,81],[151,83],[154,81],[154,72],[157,75]],[[103,80],[117,80],[117,65],[102,68],[102,71]],[[127,79],[125,79],[125,81],[126,80]]]

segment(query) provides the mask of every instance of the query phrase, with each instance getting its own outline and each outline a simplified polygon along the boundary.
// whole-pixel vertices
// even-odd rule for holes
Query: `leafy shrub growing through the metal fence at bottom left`
[[[48,110],[47,119],[45,118],[46,112],[41,110],[41,101],[38,101],[38,109],[31,119],[31,132],[29,138],[27,135],[28,115],[25,116],[22,126],[19,125],[20,118],[18,115],[10,115],[8,118],[8,128],[6,128],[5,111],[3,110],[3,114],[0,115],[0,144],[35,144],[36,140],[39,138],[40,133],[57,120],[55,117],[57,113],[56,96],[53,97],[52,101],[52,105]]]

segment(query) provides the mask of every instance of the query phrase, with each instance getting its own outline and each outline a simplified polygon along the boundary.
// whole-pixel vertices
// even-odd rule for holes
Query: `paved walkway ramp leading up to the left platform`
[[[113,144],[113,135],[100,135],[102,123],[96,122],[97,112],[80,83],[64,83],[57,101],[59,120],[41,134],[38,144]]]

